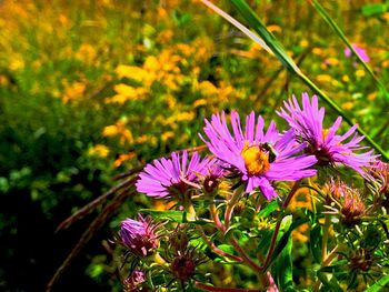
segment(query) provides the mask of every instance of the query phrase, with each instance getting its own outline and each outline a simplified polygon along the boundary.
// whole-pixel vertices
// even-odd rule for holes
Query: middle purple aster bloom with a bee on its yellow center
[[[246,118],[245,132],[241,130],[239,114],[231,111],[232,134],[227,127],[226,115],[222,112],[213,114],[211,121],[206,120],[205,133],[209,141],[209,150],[221,161],[231,168],[246,182],[246,192],[251,192],[259,187],[263,195],[270,200],[277,197],[271,181],[296,181],[316,174],[316,170],[309,169],[317,160],[312,155],[297,155],[305,145],[297,145],[292,133],[280,135],[275,122],[271,122],[268,131],[263,132],[265,121],[251,112]]]

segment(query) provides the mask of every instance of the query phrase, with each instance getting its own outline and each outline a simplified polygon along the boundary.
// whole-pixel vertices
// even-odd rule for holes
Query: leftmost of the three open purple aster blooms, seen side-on
[[[161,158],[144,167],[137,181],[138,192],[150,197],[171,198],[186,194],[190,189],[188,182],[197,183],[200,175],[205,175],[208,169],[216,163],[215,159],[200,159],[194,152],[188,164],[188,152],[173,152],[171,159]]]

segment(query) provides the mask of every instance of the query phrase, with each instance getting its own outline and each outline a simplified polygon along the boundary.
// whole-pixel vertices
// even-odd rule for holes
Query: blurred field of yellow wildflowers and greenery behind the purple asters
[[[215,2],[239,19],[229,1]],[[313,7],[248,2],[302,71],[388,150],[388,99]],[[322,4],[388,84],[388,6]],[[211,113],[255,110],[269,121],[303,91],[199,1],[0,1],[0,290],[42,291],[99,210],[54,234],[57,225],[112,188],[114,175],[200,145]],[[151,203],[129,198],[54,291],[120,291],[107,240]]]

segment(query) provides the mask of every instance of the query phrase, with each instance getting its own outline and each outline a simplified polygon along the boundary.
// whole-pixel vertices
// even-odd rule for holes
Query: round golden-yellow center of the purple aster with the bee
[[[245,160],[245,167],[251,175],[262,174],[270,168],[269,155],[258,145],[250,147],[248,142],[245,142],[241,155]]]

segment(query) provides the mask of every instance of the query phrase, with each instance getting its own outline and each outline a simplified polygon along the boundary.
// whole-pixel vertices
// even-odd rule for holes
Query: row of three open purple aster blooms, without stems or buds
[[[337,134],[341,117],[330,128],[323,127],[325,108],[319,108],[316,95],[310,99],[303,93],[302,109],[293,97],[278,114],[290,129],[279,132],[273,121],[266,129],[263,118],[256,118],[255,112],[242,125],[238,112],[231,111],[230,130],[225,112],[213,114],[200,133],[213,158],[201,159],[194,152],[187,165],[189,157],[183,151],[156,160],[140,173],[138,191],[157,198],[190,197],[193,184],[206,181],[209,191],[219,178],[235,174],[247,193],[258,188],[271,200],[278,197],[273,182],[298,181],[313,177],[316,167],[339,164],[365,175],[362,168],[376,158],[372,150],[363,152],[357,125],[341,135]]]

